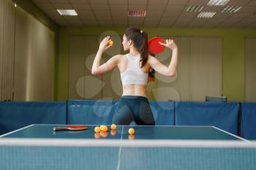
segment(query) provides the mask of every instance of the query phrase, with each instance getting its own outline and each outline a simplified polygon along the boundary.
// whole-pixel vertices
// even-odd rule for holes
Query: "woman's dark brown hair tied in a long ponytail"
[[[139,28],[129,27],[124,31],[127,40],[132,40],[133,45],[140,52],[141,66],[145,66],[148,61],[148,34]]]

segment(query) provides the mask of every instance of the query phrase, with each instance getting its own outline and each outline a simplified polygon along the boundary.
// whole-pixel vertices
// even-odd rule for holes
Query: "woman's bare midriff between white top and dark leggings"
[[[123,85],[122,96],[146,96],[146,85]]]

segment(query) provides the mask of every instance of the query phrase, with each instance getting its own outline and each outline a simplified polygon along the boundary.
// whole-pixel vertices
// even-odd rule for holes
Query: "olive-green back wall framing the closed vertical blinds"
[[[148,38],[159,34],[176,36],[222,36],[222,93],[229,101],[245,100],[245,38],[256,36],[256,29],[197,29],[197,28],[141,28]],[[59,28],[59,55],[57,76],[57,100],[68,98],[69,36],[100,35],[104,31],[124,34],[124,28],[72,27]],[[182,56],[181,56],[182,57]],[[154,100],[151,89],[156,83],[148,84],[148,98]]]

